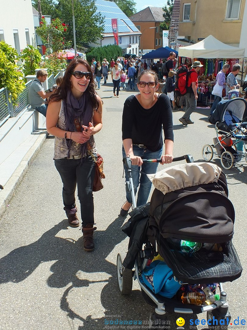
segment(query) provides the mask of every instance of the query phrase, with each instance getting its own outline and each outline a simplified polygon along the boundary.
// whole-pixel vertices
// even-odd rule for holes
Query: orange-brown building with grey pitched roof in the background
[[[132,15],[129,19],[141,31],[140,49],[143,51],[158,49],[163,46],[160,23],[164,21],[160,7],[147,7]]]

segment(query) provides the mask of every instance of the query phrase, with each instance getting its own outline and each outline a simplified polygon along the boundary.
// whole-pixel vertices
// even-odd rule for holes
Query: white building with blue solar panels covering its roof
[[[123,49],[123,54],[139,54],[139,39],[141,32],[131,22],[131,20],[122,12],[115,2],[96,0],[97,10],[104,19],[104,33],[102,39],[97,44],[90,44],[91,47],[101,47],[116,44],[112,32],[112,18],[118,18],[118,44]]]

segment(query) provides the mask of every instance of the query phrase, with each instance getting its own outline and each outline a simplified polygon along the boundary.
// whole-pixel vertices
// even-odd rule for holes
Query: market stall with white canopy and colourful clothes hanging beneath
[[[229,72],[231,72],[233,65],[239,63],[239,59],[244,57],[244,52],[244,48],[226,45],[209,35],[194,45],[179,47],[178,56],[180,64],[188,65],[194,60],[199,60],[203,64],[198,80],[200,97],[202,97],[202,94],[206,97],[210,96],[211,103],[211,91],[216,82],[217,73],[225,63],[229,63]]]

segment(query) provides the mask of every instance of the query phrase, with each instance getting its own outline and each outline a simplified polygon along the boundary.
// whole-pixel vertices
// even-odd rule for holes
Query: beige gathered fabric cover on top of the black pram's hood
[[[165,195],[171,191],[217,182],[221,168],[210,163],[179,164],[155,174],[148,174],[154,187]]]

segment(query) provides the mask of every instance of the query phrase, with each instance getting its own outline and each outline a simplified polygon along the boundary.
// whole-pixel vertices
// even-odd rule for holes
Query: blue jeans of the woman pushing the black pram
[[[124,147],[122,148],[123,157],[126,156]],[[147,148],[139,148],[138,146],[133,146],[133,153],[135,156],[142,157],[144,159],[155,159],[155,158],[161,158],[162,155],[162,148],[158,151],[150,151]],[[137,188],[140,184],[138,194],[137,194],[137,202],[136,206],[141,206],[147,203],[152,182],[149,180],[146,174],[154,174],[157,171],[158,163],[143,163],[141,168],[136,165],[132,165],[131,168],[132,171],[132,179],[133,179],[133,185],[134,185],[134,192],[136,195]],[[127,175],[127,170],[124,166],[125,170],[125,181],[128,182],[129,178]],[[142,171],[144,173],[141,173],[139,171]],[[146,174],[145,174],[146,173]],[[126,187],[126,200],[131,203],[131,195],[128,192],[127,185]]]

